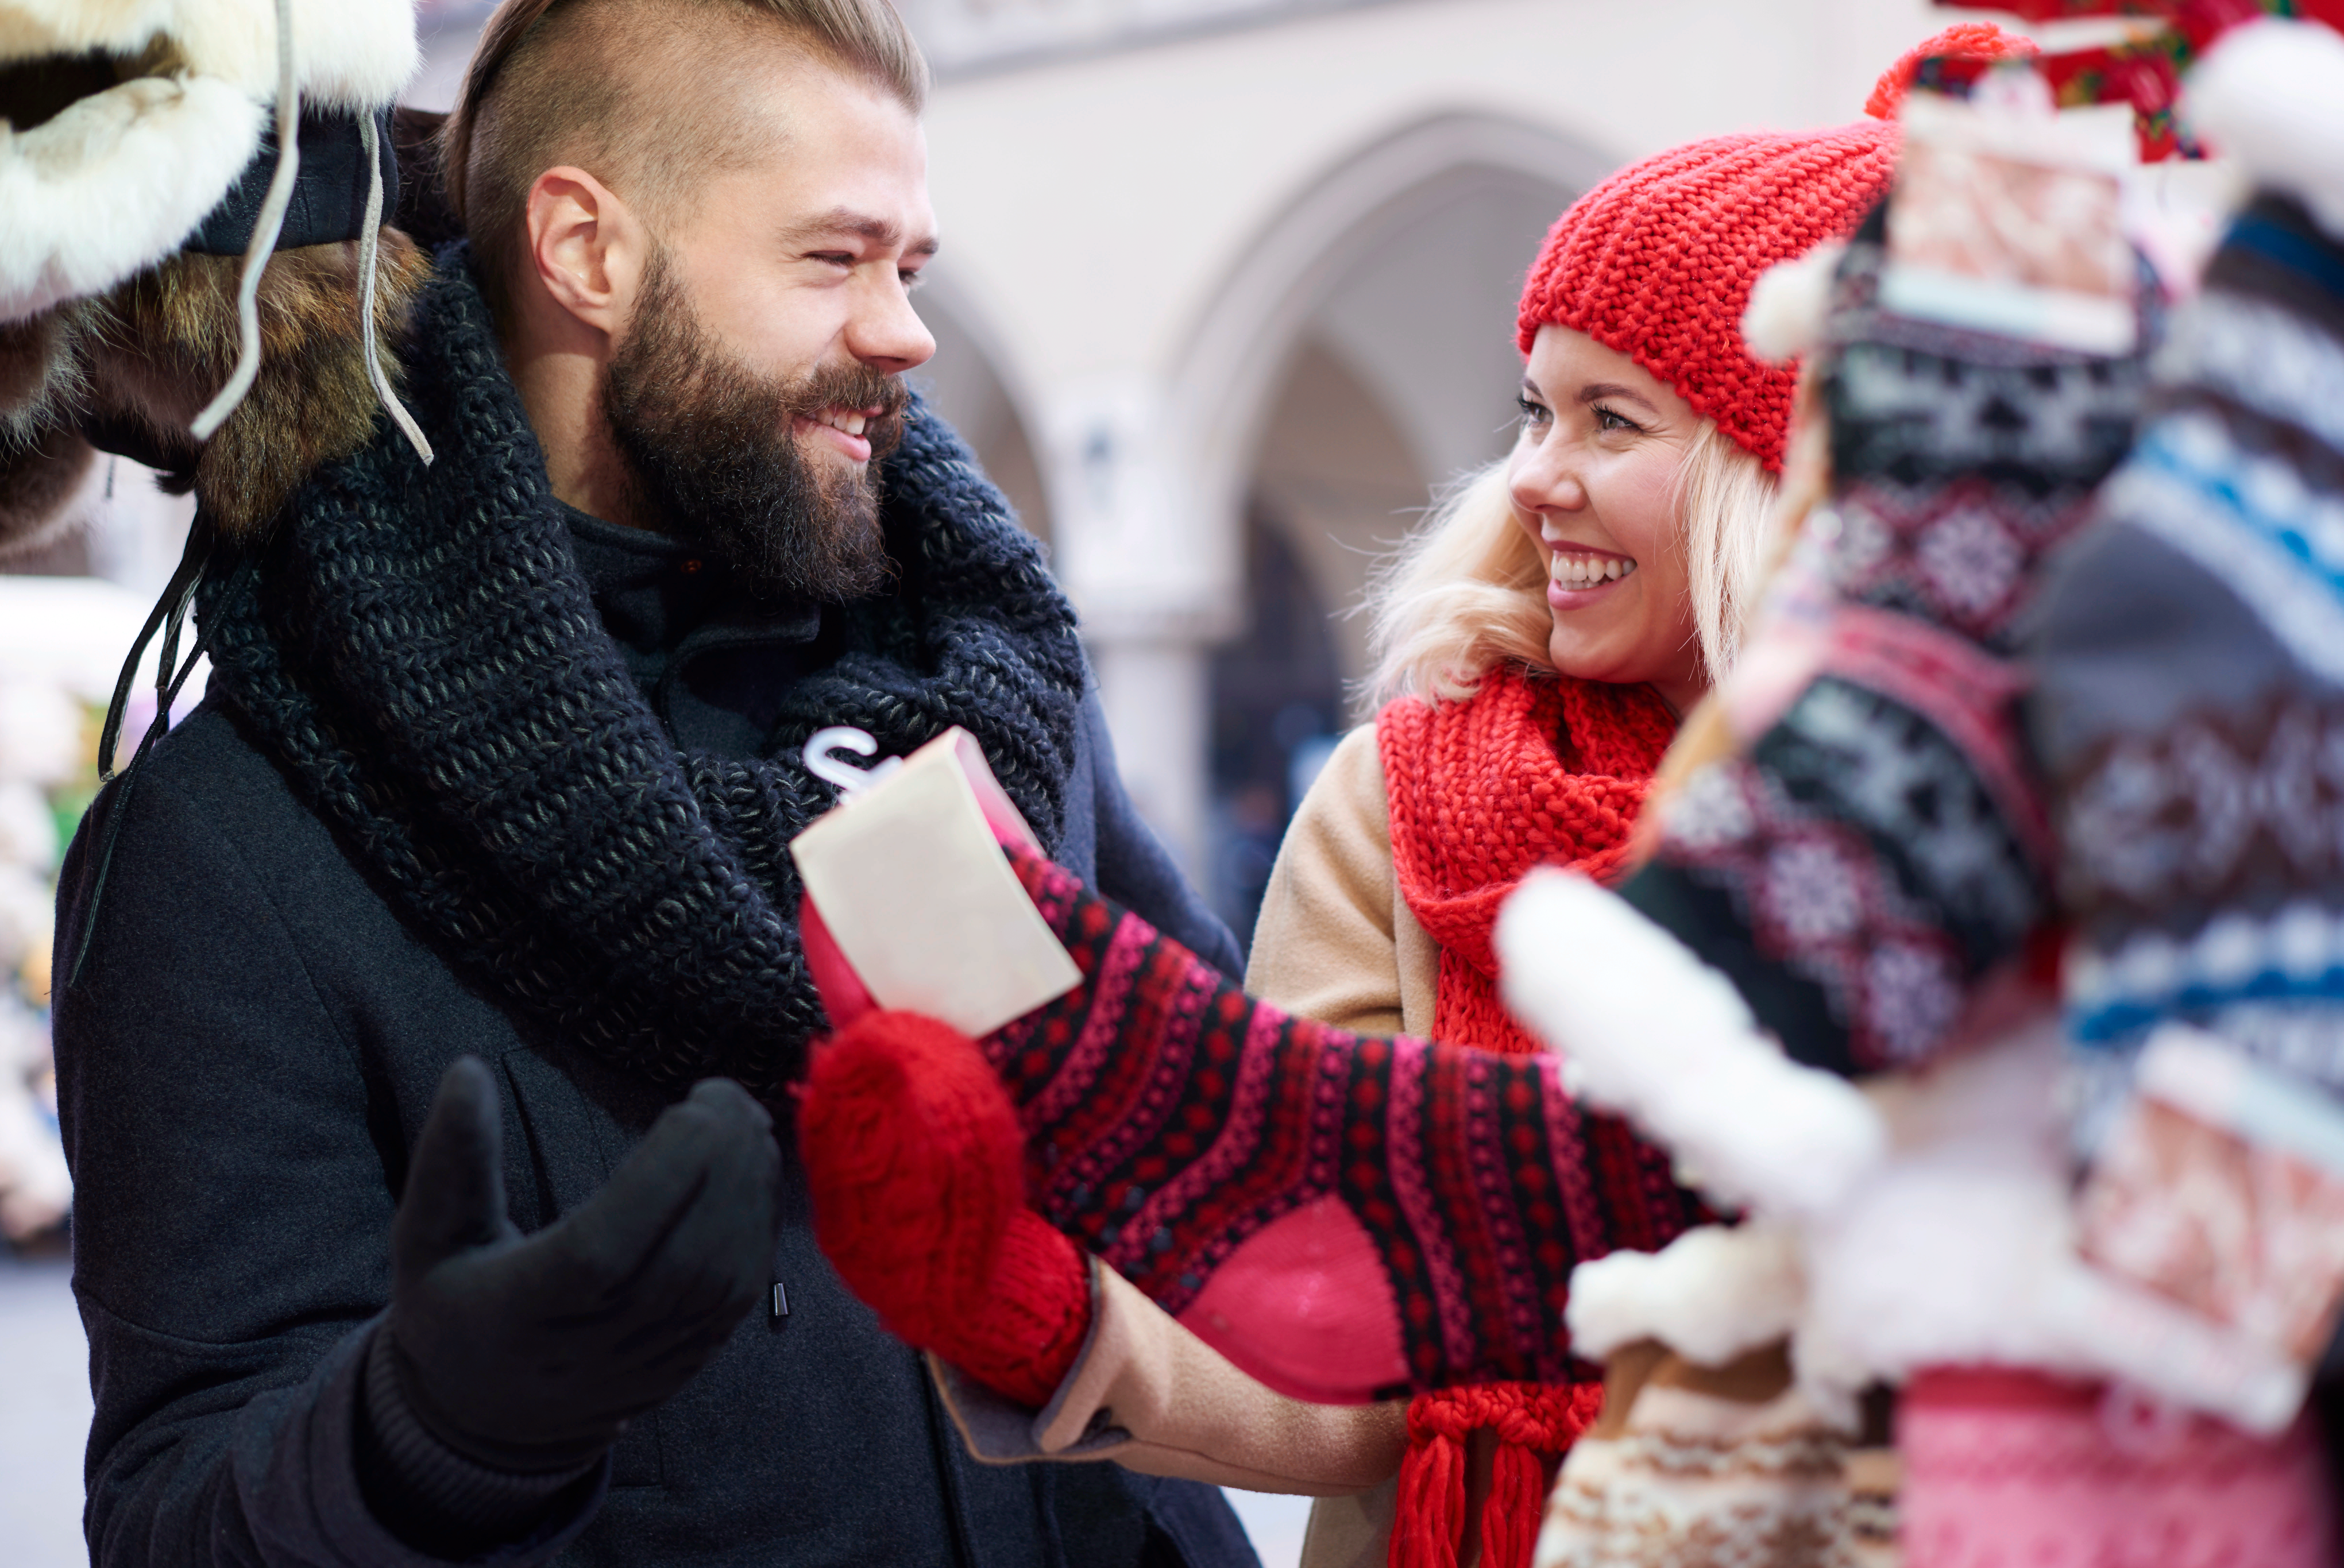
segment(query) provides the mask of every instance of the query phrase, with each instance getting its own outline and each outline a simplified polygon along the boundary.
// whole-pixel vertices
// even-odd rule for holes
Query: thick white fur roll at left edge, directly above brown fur
[[[0,124],[0,321],[159,263],[258,145],[260,108],[209,80],[138,77],[30,131]]]

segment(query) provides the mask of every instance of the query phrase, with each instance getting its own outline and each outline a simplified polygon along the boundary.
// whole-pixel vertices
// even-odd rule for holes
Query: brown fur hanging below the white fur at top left
[[[63,347],[49,401],[7,424],[19,443],[82,420],[141,429],[152,438],[143,459],[192,469],[197,499],[220,534],[258,537],[293,490],[375,434],[382,408],[359,340],[356,260],[352,241],[270,258],[260,274],[260,375],[202,448],[188,422],[237,363],[241,255],[173,255],[98,300],[56,312]],[[431,260],[398,230],[382,230],[377,265],[375,330],[398,382],[396,347]]]

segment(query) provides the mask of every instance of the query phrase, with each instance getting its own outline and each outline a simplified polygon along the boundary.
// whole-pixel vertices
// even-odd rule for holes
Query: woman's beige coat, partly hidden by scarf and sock
[[[1254,933],[1247,989],[1289,1013],[1399,1034],[1432,1024],[1439,952],[1392,881],[1376,731],[1343,738],[1303,799]],[[938,1364],[980,1460],[1116,1460],[1144,1474],[1320,1498],[1303,1568],[1383,1568],[1406,1402],[1273,1395],[1163,1308],[1095,1268],[1090,1343],[1041,1411]]]

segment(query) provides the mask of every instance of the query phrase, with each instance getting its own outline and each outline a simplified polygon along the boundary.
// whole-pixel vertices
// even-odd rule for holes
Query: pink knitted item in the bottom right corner
[[[1934,1369],[1896,1411],[1906,1568],[2325,1568],[2309,1418],[2262,1441],[2030,1371]]]

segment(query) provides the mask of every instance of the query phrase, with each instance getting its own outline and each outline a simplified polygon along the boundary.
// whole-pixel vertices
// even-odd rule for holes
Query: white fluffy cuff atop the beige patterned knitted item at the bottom
[[[1697,1226],[1660,1252],[1615,1252],[1573,1268],[1563,1317],[1573,1355],[1608,1357],[1657,1338],[1688,1362],[1725,1366],[1786,1338],[1805,1303],[1791,1230]]]

